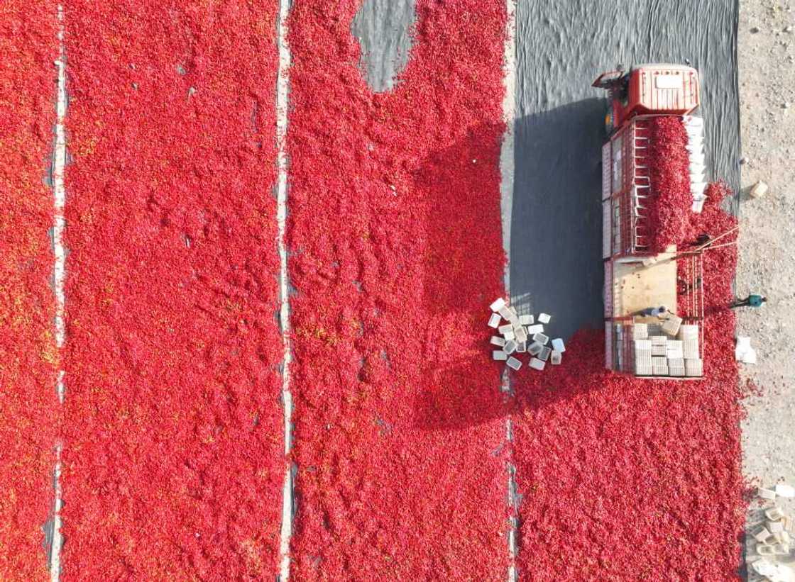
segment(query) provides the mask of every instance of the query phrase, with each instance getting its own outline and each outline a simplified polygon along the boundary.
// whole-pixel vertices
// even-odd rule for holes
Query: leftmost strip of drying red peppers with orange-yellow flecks
[[[57,432],[52,190],[55,5],[0,10],[0,579],[48,580]]]

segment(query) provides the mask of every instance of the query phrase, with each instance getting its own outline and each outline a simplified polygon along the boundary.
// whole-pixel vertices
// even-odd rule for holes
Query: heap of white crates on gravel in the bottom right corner
[[[757,529],[753,531],[755,555],[751,554],[748,544],[746,561],[754,572],[770,582],[793,582],[795,570],[787,563],[792,561],[795,549],[795,521],[776,504],[776,499],[795,498],[795,488],[778,484],[773,489],[759,488],[758,495],[766,501],[767,507],[762,507],[758,517],[750,520],[751,523],[757,522]]]

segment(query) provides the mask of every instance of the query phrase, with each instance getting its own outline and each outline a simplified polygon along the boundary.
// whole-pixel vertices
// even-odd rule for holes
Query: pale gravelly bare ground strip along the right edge
[[[739,313],[758,364],[743,365],[761,394],[746,403],[744,470],[760,484],[795,483],[795,2],[742,0],[739,92],[743,193],[737,294],[766,295]],[[757,180],[770,187],[749,198]]]

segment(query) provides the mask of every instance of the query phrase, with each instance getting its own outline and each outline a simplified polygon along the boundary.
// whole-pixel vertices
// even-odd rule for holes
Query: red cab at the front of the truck
[[[605,126],[610,134],[636,115],[687,115],[700,102],[698,71],[681,64],[642,64],[608,71],[593,82],[610,92]]]

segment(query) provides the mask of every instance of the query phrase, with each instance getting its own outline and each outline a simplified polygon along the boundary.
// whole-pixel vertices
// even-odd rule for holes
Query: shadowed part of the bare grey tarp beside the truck
[[[603,112],[590,98],[516,121],[510,295],[566,340],[603,321]]]

